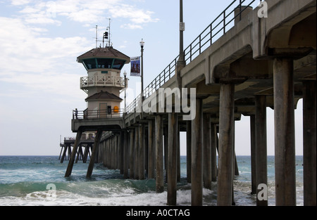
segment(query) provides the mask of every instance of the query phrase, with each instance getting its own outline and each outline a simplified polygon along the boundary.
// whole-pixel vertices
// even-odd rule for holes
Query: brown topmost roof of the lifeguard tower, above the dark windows
[[[82,63],[82,60],[87,58],[117,58],[125,60],[125,64],[130,63],[130,57],[116,50],[112,46],[107,46],[105,48],[93,48],[92,50],[77,57],[77,62]]]

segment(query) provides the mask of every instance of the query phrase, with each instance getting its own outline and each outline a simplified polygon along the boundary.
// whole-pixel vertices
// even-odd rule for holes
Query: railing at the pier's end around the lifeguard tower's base
[[[109,110],[73,110],[73,119],[102,119],[102,118],[116,118],[123,117],[123,109],[109,109]]]

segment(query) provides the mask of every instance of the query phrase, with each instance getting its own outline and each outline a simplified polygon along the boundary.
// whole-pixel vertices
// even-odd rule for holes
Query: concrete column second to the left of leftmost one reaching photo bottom
[[[155,141],[154,141],[154,129],[153,129],[153,121],[149,120],[149,129],[148,129],[148,145],[149,145],[149,174],[148,179],[154,179],[155,178]]]

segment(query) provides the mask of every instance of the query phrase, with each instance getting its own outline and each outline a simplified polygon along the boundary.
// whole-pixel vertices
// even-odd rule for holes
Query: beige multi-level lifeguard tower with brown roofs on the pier
[[[87,77],[80,78],[80,89],[87,93],[87,109],[78,115],[84,119],[118,117],[120,115],[120,90],[127,80],[120,76],[123,65],[130,57],[112,46],[93,48],[77,58],[87,70]]]

